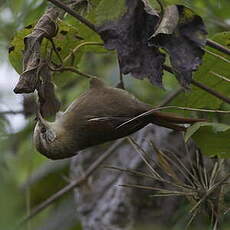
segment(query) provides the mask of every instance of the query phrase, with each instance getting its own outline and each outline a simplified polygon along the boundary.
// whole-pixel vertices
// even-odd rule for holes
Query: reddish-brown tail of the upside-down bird
[[[204,119],[184,118],[170,113],[156,112],[154,109],[152,109],[122,123],[119,128],[125,128],[125,126],[130,123],[143,120],[145,120],[147,123],[153,123],[176,131],[186,131],[184,124],[194,124],[196,122],[205,121]]]

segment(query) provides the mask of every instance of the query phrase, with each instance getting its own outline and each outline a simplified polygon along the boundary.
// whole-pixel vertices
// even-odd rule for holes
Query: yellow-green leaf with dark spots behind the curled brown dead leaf
[[[54,44],[58,53],[62,60],[64,60],[68,55],[71,56],[72,51],[74,48],[79,46],[80,44],[84,43],[85,40],[81,38],[78,33],[78,30],[67,24],[64,21],[58,22],[58,34],[53,38]],[[23,50],[24,50],[24,38],[28,34],[32,32],[33,26],[29,25],[23,30],[20,30],[14,36],[9,49],[9,60],[14,67],[14,69],[21,74],[22,73],[22,63],[23,63]],[[43,58],[49,59],[50,49],[52,48],[51,42],[47,39],[43,39],[41,45],[41,56]],[[76,66],[84,53],[84,48],[79,49],[74,55],[72,55],[68,61],[65,63],[66,65],[74,65]],[[58,59],[57,55],[52,52],[52,61],[60,64],[60,60]],[[65,77],[63,77],[65,75]],[[63,85],[68,83],[74,77],[66,77],[69,76],[69,73],[55,73],[54,82],[57,85]]]

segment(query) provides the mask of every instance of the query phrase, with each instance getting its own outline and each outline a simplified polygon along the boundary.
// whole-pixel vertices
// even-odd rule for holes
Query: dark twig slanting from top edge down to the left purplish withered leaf
[[[67,13],[69,13],[70,15],[75,17],[77,20],[79,20],[80,22],[82,22],[83,24],[88,26],[91,30],[93,30],[94,32],[98,33],[97,28],[93,23],[91,23],[90,21],[88,21],[87,19],[82,17],[80,14],[78,14],[77,12],[72,10],[69,6],[65,5],[64,3],[62,3],[62,2],[60,2],[58,0],[48,0],[48,1],[52,2],[55,6],[63,9],[64,11],[66,11]]]

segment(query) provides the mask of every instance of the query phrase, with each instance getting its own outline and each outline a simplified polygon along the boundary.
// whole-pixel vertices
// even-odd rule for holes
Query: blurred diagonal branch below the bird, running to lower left
[[[36,216],[38,213],[40,213],[42,210],[47,208],[50,204],[52,204],[54,201],[62,197],[67,192],[71,191],[75,187],[79,187],[82,184],[84,184],[87,179],[94,173],[96,169],[108,158],[112,155],[112,153],[116,150],[116,148],[124,141],[125,139],[120,139],[117,142],[115,142],[110,148],[101,155],[94,163],[92,163],[89,168],[86,170],[84,175],[82,175],[80,178],[77,178],[76,180],[73,180],[70,184],[65,186],[63,189],[59,190],[55,194],[53,194],[51,197],[49,197],[47,200],[45,200],[43,203],[35,207],[31,213],[24,217],[16,227],[16,229],[21,228],[25,223],[27,223],[30,219],[32,219],[34,216]]]

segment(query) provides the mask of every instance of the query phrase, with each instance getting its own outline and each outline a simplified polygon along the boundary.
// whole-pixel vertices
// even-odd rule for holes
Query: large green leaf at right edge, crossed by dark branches
[[[218,42],[225,47],[229,47],[230,32],[218,33],[212,38],[212,40]],[[229,56],[221,53],[220,51],[209,48],[207,46],[206,49],[229,60]],[[211,71],[225,76],[226,78],[229,78],[230,65],[222,59],[215,57],[210,53],[206,53],[203,58],[203,64],[195,73],[194,79],[220,92],[225,96],[230,96],[229,83],[213,75],[212,73],[210,73]],[[206,91],[197,88],[196,86],[193,86],[190,92],[185,92],[181,94],[174,101],[174,103],[177,106],[180,105],[195,108],[218,109],[220,108],[220,105],[223,103],[223,101],[207,93]]]

